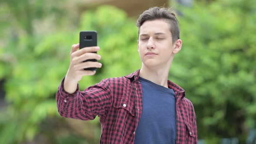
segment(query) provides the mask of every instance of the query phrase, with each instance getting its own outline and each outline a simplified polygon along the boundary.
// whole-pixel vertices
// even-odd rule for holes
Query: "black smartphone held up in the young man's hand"
[[[79,49],[90,47],[90,46],[97,46],[97,32],[96,31],[80,32],[79,33]],[[84,62],[87,62],[87,61],[97,62],[97,59],[88,59],[88,60],[85,60]],[[97,68],[86,68],[84,70],[96,71]]]

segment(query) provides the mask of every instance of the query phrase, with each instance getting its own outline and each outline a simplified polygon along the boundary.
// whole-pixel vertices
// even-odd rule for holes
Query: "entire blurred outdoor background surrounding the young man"
[[[134,72],[136,20],[155,6],[178,14],[169,79],[194,104],[199,144],[256,144],[256,0],[0,0],[0,144],[98,144],[98,117],[56,108],[71,46],[98,32],[103,66],[80,90]]]

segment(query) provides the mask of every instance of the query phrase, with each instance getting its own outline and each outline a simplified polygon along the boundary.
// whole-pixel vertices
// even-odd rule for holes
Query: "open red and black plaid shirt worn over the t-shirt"
[[[93,120],[102,125],[100,144],[133,144],[142,111],[142,88],[139,70],[100,83],[73,94],[64,91],[63,80],[56,94],[59,114],[65,118]],[[177,111],[176,144],[197,144],[194,107],[180,86],[168,81],[175,92]]]

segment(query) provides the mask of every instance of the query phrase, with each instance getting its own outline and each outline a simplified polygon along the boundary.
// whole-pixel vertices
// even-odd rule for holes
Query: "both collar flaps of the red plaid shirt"
[[[126,75],[125,77],[128,78],[128,79],[134,79],[135,81],[138,81],[139,79],[139,72],[140,72],[140,69],[138,69],[137,71],[129,74],[129,75]],[[185,93],[185,90],[183,88],[181,88],[179,85],[171,82],[168,80],[168,88],[171,88],[174,90],[175,94],[176,93],[181,93],[181,98],[184,98],[186,93]]]

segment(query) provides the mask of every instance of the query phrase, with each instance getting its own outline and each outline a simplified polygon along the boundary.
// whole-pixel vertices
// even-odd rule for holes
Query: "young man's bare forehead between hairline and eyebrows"
[[[166,20],[145,21],[139,28],[139,33],[171,33],[170,26]]]

